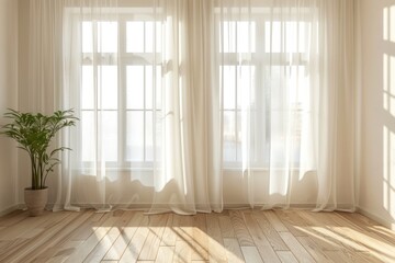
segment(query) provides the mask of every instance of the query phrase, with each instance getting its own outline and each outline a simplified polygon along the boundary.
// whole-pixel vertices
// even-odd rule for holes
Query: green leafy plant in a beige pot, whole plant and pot
[[[19,148],[27,152],[31,161],[32,185],[24,191],[24,199],[31,216],[43,213],[47,203],[48,187],[45,182],[54,168],[60,163],[59,151],[67,147],[50,148],[52,139],[67,127],[75,126],[77,117],[72,110],[56,111],[52,115],[42,113],[21,113],[8,110],[4,117],[11,119],[1,127],[0,134],[14,139]]]

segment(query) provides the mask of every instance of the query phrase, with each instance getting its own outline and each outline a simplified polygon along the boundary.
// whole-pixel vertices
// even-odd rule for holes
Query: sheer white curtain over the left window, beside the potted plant
[[[66,3],[64,105],[81,119],[70,134],[66,204],[222,210],[212,44],[202,37],[211,4]]]

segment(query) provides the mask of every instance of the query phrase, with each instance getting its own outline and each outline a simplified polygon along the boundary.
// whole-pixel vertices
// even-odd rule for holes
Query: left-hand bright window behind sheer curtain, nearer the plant
[[[149,167],[161,107],[161,23],[140,13],[83,21],[81,47],[82,161],[98,152],[110,167]]]

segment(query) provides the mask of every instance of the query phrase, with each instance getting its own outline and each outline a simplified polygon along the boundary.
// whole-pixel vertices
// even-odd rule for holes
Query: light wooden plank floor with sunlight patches
[[[395,232],[346,213],[19,210],[0,218],[0,262],[395,262]]]

